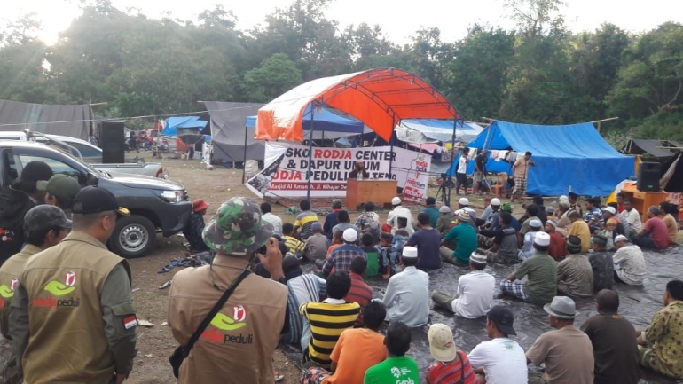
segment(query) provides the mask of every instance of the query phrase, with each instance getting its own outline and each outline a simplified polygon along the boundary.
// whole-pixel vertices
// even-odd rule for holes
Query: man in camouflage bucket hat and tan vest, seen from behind
[[[255,274],[242,280],[180,365],[178,383],[274,382],[272,355],[286,324],[287,280],[272,231],[254,200],[232,198],[204,228],[204,242],[217,251],[214,262],[181,270],[173,278],[169,326],[183,346],[253,255],[279,281]]]

